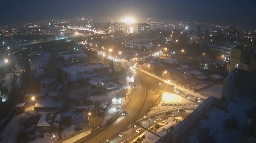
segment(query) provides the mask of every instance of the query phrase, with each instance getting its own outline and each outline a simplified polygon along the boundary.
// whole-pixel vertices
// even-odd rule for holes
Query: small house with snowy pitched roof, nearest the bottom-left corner
[[[61,126],[59,125],[60,121],[60,114],[44,112],[37,123],[37,127],[39,131],[43,132],[52,132],[53,130],[59,131],[61,129]]]

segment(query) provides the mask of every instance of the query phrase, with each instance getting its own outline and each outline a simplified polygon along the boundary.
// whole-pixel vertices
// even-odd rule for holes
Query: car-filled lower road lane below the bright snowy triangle
[[[188,109],[188,110],[186,110],[186,112],[183,112],[182,114],[185,115],[185,116],[188,116],[193,111],[194,110],[192,110],[192,109]],[[180,116],[181,112],[174,111],[172,114],[169,114],[169,115],[165,115],[164,113],[160,113],[160,114],[155,115],[155,116],[156,116],[156,119],[161,118],[162,119],[161,121],[163,121],[163,120],[168,119],[171,115]],[[154,116],[152,116],[152,117],[154,117]],[[141,123],[141,126],[143,126],[144,128],[149,128],[149,125],[152,126],[153,124],[155,124],[154,120],[150,121],[148,118],[145,118],[140,123]],[[138,128],[140,128],[140,127],[137,126],[135,128],[135,127],[133,127],[133,124],[132,124],[132,126],[130,126],[129,129],[127,129],[127,131],[124,131],[124,132],[127,132],[126,135],[124,135],[123,137],[119,137],[119,135],[117,135],[117,136],[115,136],[115,138],[113,140],[109,141],[109,143],[121,143],[123,140],[129,140],[129,141],[132,140],[133,138],[137,137],[138,135],[140,135],[141,133],[143,133],[145,131],[143,129],[140,133],[137,133],[136,130]]]

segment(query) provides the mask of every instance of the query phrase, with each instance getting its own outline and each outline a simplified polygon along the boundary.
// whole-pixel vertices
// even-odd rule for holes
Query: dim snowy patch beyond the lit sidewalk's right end
[[[213,96],[213,97],[221,98],[222,88],[223,88],[222,85],[214,84],[213,86],[200,90],[197,93],[205,96]]]

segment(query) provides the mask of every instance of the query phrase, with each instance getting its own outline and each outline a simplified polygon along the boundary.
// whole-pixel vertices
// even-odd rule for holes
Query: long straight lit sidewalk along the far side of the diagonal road
[[[134,64],[133,67],[134,67],[136,70],[139,70],[139,71],[141,71],[141,72],[143,72],[143,73],[146,73],[147,75],[152,76],[152,77],[154,77],[155,79],[158,79],[158,80],[160,80],[160,81],[163,81],[163,82],[165,81],[165,79],[163,79],[163,78],[161,78],[161,77],[159,77],[159,76],[156,76],[155,74],[151,74],[151,73],[149,73],[149,72],[147,72],[147,71],[145,71],[145,70],[138,69],[135,65],[136,65],[136,64]],[[177,86],[177,84],[175,84],[175,81],[173,81],[173,80],[170,80],[170,81],[171,81],[171,82],[168,83],[169,85],[173,85],[173,86],[177,87],[177,88],[180,89],[180,90],[183,90],[183,91],[188,92],[188,93],[191,94],[191,95],[194,95],[194,96],[203,98],[203,99],[205,99],[205,100],[208,98],[208,96],[201,95],[201,94],[199,94],[199,93],[194,93],[194,92],[189,91],[188,89],[185,89],[185,88],[183,88],[183,87],[180,87],[180,84],[179,84],[179,86]]]

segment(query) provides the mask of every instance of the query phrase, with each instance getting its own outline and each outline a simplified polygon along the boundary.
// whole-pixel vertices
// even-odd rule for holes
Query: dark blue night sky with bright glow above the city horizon
[[[0,25],[72,17],[151,17],[256,29],[256,0],[1,0]]]

